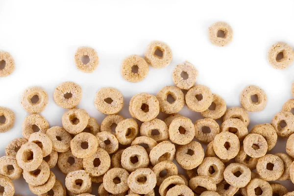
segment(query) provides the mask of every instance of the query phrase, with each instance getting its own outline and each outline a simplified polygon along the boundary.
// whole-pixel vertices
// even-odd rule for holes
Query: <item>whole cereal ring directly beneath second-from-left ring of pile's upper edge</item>
[[[87,127],[89,119],[86,110],[78,108],[70,109],[61,118],[63,128],[71,134],[82,132]]]

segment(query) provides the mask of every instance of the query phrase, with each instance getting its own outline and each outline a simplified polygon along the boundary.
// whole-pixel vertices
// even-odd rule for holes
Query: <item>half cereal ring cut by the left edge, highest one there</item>
[[[14,71],[15,63],[10,53],[0,51],[0,77],[10,75]]]

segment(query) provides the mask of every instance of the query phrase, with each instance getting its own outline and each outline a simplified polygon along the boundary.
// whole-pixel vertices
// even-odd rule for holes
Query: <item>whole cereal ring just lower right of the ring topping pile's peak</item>
[[[208,87],[198,84],[189,89],[185,99],[190,110],[203,112],[211,105],[213,96]]]

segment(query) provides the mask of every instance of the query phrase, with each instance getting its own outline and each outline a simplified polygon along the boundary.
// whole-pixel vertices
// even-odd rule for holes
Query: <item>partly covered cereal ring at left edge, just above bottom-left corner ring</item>
[[[17,165],[16,158],[13,156],[2,156],[0,158],[0,174],[9,177],[10,180],[19,179],[23,169]]]

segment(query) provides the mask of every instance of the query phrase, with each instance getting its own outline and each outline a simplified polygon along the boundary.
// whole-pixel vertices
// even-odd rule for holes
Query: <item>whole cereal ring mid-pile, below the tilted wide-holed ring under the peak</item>
[[[195,126],[189,118],[179,117],[170,124],[169,134],[173,143],[186,145],[195,137]]]

